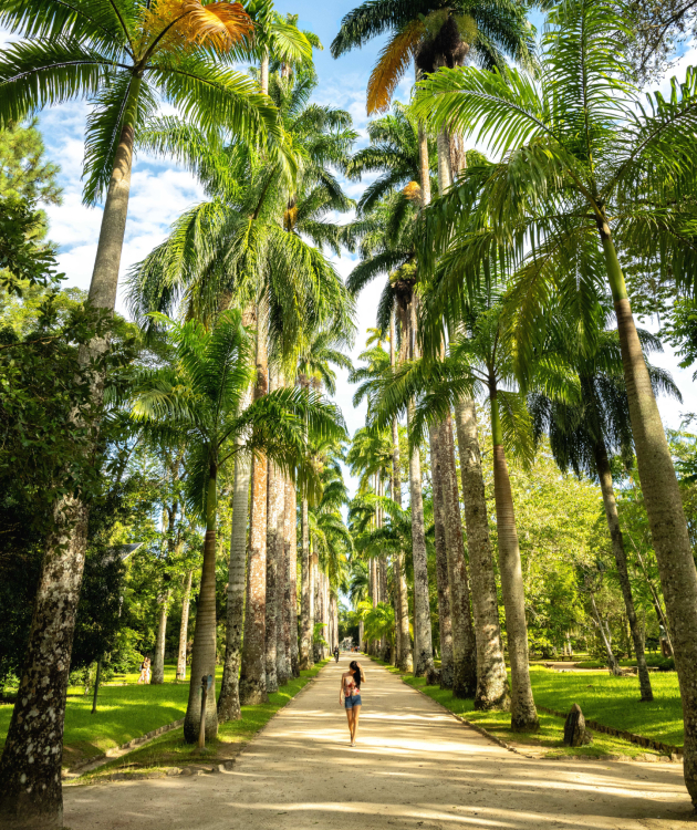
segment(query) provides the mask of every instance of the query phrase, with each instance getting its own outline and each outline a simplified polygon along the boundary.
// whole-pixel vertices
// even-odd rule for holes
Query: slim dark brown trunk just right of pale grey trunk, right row
[[[452,688],[452,619],[450,616],[450,581],[443,504],[443,424],[429,429],[430,471],[434,488],[434,530],[436,537],[436,588],[438,592],[438,627],[440,632],[440,688]]]

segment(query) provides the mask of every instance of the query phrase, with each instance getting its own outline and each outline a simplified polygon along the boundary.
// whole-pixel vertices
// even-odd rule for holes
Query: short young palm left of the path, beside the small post
[[[206,733],[215,737],[218,717],[215,695],[216,670],[216,528],[218,475],[240,452],[263,452],[285,468],[304,450],[305,424],[320,434],[342,433],[334,407],[308,398],[297,390],[278,390],[241,409],[253,380],[252,341],[245,331],[241,312],[223,312],[215,326],[164,323],[176,346],[176,364],[148,372],[137,386],[134,417],[163,437],[177,437],[187,445],[189,509],[206,525],[204,563],[191,660],[189,701],[184,720],[188,743],[198,737],[201,719],[199,683],[212,675],[208,696]],[[306,417],[305,417],[306,416]],[[236,442],[245,436],[245,442]]]

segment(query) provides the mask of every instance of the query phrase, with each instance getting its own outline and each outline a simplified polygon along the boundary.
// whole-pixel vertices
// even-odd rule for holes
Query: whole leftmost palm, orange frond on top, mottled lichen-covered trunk
[[[196,0],[152,6],[142,0],[30,0],[3,3],[0,21],[24,38],[7,45],[0,56],[2,122],[19,123],[43,106],[71,100],[90,97],[94,102],[87,121],[84,198],[95,204],[105,197],[105,205],[89,301],[111,312],[133,154],[158,96],[207,132],[222,124],[252,144],[271,138],[272,154],[282,144],[282,131],[269,100],[258,94],[249,77],[219,60],[225,52],[241,58],[247,51],[249,17],[241,6],[226,2],[205,7]],[[103,345],[100,341],[92,347]],[[89,350],[83,354],[83,360],[87,359]],[[98,395],[102,384],[96,381]],[[91,450],[85,447],[85,452]],[[60,724],[62,735],[86,544],[86,510],[80,499],[67,496],[53,507],[55,530],[46,540],[42,588],[37,595],[23,675],[28,688],[51,688],[52,695],[39,701],[31,694],[18,701],[17,717],[25,724],[30,712],[48,714],[32,716],[31,729],[22,730],[21,741],[6,745],[0,812],[7,813],[8,821],[19,810],[20,797],[25,799],[22,810],[28,822],[37,813],[38,822],[45,826],[55,821],[61,810],[62,751],[54,749],[62,741],[56,738],[55,724]],[[55,615],[53,601],[59,594],[63,596],[63,613]],[[38,654],[44,657],[39,660]],[[19,761],[20,756],[27,756],[21,748],[24,741],[38,751],[40,764]],[[49,751],[44,753],[45,748]]]

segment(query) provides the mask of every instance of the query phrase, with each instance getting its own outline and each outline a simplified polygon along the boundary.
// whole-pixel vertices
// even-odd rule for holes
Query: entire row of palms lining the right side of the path
[[[562,469],[587,470],[601,481],[639,645],[642,698],[651,699],[608,464],[613,454],[635,453],[683,696],[685,780],[697,799],[697,572],[656,405],[657,392],[677,391],[646,360],[657,344],[636,329],[623,274],[627,266],[654,270],[676,291],[693,289],[697,73],[674,80],[669,97],[641,101],[615,38],[630,31],[622,9],[566,0],[549,12],[537,52],[522,14],[503,4],[492,11],[428,0],[367,2],[346,15],[332,44],[339,55],[388,34],[368,84],[370,112],[389,105],[412,59],[417,74],[412,106],[373,122],[372,146],[356,158],[356,170],[381,176],[360,205],[354,232],[362,261],[348,280],[357,292],[387,277],[377,325],[396,326],[402,344],[396,367],[370,355],[356,380],[370,398],[368,432],[407,419],[414,671],[429,673],[433,663],[418,468],[427,438],[440,654],[452,662],[441,682],[471,694],[476,664],[475,705],[509,705],[475,409],[483,397],[512,728],[534,729],[538,716],[508,465],[510,455],[529,464],[545,432]],[[487,147],[495,160],[466,152],[465,142]]]

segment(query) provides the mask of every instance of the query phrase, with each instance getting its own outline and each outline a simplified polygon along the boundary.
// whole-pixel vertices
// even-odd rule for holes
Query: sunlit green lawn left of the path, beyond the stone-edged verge
[[[91,714],[92,694],[85,696],[84,689],[80,687],[69,688],[63,766],[70,768],[82,764],[92,757],[103,755],[107,749],[184,717],[189,682],[175,681],[175,672],[174,664],[166,666],[165,683],[157,686],[136,685],[137,672],[126,676],[127,685],[119,682],[118,685],[102,686],[95,715]],[[218,666],[218,682],[221,676],[222,666]],[[284,687],[281,694],[285,694],[290,687],[291,684]],[[11,704],[0,706],[0,747],[4,744],[11,715]]]

